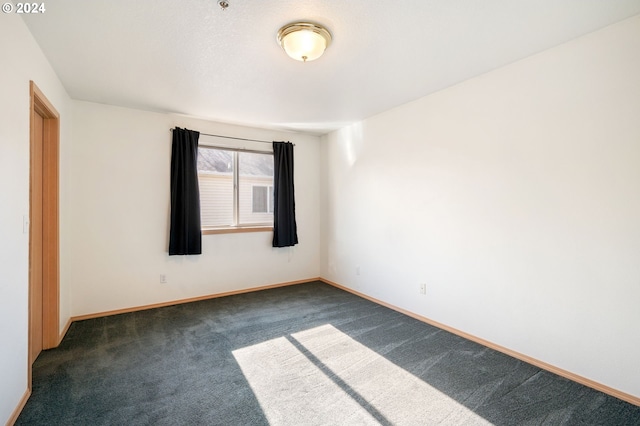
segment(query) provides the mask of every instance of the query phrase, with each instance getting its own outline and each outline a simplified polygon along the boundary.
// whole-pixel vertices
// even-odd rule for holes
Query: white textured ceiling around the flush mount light
[[[56,0],[22,15],[73,99],[322,134],[640,14],[640,0]],[[302,63],[295,20],[333,42]]]

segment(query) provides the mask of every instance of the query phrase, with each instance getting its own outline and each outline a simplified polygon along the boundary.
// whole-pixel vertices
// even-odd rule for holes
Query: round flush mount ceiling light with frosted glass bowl
[[[318,59],[331,44],[329,31],[311,22],[292,22],[278,31],[278,43],[297,61]]]

